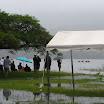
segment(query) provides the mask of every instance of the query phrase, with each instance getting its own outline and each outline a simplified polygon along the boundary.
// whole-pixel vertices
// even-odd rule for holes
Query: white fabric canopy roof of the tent
[[[46,45],[47,50],[103,50],[104,31],[59,31]]]

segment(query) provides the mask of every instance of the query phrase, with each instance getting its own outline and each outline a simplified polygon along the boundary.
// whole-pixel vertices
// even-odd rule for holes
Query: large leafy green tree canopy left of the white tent
[[[35,17],[0,12],[0,49],[44,49],[51,38]]]

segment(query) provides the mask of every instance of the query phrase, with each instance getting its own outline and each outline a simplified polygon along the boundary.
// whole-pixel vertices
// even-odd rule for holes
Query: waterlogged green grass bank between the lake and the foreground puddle
[[[75,76],[85,76],[84,74],[75,74]],[[8,78],[4,77],[0,73],[0,89],[16,89],[16,90],[26,90],[33,92],[40,92],[39,86],[37,84],[42,83],[43,72],[35,74],[34,72],[9,72]],[[91,84],[89,82],[103,82],[101,75],[89,75],[96,77],[96,79],[76,79],[75,80],[75,91],[72,90],[72,80],[71,79],[61,79],[61,77],[71,76],[70,73],[65,72],[50,72],[50,83],[67,83],[71,87],[51,87],[50,92],[66,94],[68,96],[89,96],[89,97],[104,97],[104,84]],[[100,79],[100,80],[99,80]],[[47,73],[44,75],[43,82],[47,83]],[[78,85],[79,87],[76,87]],[[47,92],[47,86],[43,86],[43,92]]]

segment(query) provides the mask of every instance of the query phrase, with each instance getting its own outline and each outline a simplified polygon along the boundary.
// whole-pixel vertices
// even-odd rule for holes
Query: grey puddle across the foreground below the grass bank
[[[104,97],[69,97],[65,94],[54,93],[48,96],[47,93],[0,89],[0,104],[65,104],[72,102],[78,104],[103,103]]]

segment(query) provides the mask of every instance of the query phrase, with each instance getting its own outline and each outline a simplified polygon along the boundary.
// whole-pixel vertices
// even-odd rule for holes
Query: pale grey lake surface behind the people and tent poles
[[[30,60],[33,62],[32,59]],[[16,59],[13,59],[12,61],[15,62],[16,68],[19,62],[21,62],[23,66],[28,64],[28,66],[30,66],[30,68],[33,70],[33,63],[22,62]],[[73,59],[73,67],[74,67],[74,73],[96,74],[99,72],[99,70],[102,69],[100,74],[104,74],[104,60],[103,59]],[[44,69],[44,60],[42,59],[40,63],[40,71],[42,71],[43,69]],[[58,71],[57,61],[52,60],[51,70],[56,71],[56,72]],[[62,60],[61,71],[71,73],[70,59]]]

